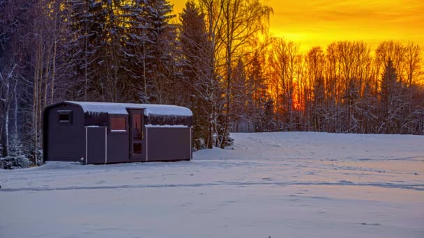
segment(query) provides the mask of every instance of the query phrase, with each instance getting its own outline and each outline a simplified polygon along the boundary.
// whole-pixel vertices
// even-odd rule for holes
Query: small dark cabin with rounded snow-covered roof
[[[192,111],[182,106],[64,101],[47,106],[43,122],[45,161],[192,158]]]

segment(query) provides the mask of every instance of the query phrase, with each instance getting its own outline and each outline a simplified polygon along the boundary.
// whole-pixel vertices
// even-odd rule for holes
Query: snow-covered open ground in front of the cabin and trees
[[[424,237],[424,136],[232,136],[192,161],[0,170],[0,237]]]

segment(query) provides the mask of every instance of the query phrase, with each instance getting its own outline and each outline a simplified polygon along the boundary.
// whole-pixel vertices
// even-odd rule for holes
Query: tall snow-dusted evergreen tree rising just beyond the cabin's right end
[[[219,146],[222,138],[218,116],[223,102],[214,69],[213,45],[205,16],[194,2],[185,4],[180,20],[183,97],[194,113],[194,146],[196,149],[212,148]]]

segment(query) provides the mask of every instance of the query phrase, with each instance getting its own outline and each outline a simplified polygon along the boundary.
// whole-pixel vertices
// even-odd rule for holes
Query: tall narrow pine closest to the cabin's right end
[[[183,88],[181,91],[185,105],[193,111],[193,146],[195,150],[211,148],[211,130],[209,129],[209,111],[211,105],[205,97],[207,86],[204,84],[207,75],[208,49],[204,15],[194,2],[185,3],[180,14],[181,21],[181,53],[183,68]]]

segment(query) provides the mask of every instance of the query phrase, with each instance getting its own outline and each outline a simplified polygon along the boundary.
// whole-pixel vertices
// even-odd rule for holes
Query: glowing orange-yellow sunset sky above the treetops
[[[180,13],[186,0],[169,0]],[[325,47],[336,40],[411,40],[424,47],[424,0],[264,0],[274,10],[273,35]]]

